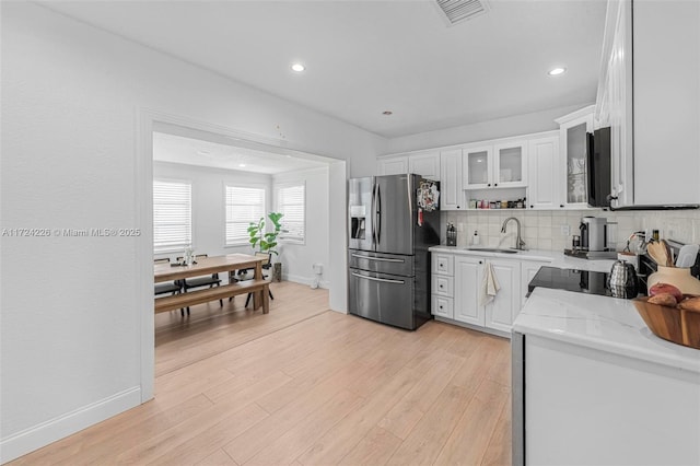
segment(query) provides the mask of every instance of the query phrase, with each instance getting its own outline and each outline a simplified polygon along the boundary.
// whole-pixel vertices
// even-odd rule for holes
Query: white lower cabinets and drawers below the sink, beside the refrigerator
[[[487,261],[501,288],[493,301],[482,306],[479,296]],[[470,326],[508,334],[521,310],[518,260],[455,256],[454,277],[433,273],[432,286],[433,315]]]

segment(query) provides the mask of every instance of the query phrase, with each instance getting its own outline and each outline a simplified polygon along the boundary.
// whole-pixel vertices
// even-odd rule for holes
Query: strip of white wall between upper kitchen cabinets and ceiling
[[[394,138],[388,141],[385,153],[395,154],[559,129],[555,118],[575,112],[586,105],[591,105],[591,102]]]

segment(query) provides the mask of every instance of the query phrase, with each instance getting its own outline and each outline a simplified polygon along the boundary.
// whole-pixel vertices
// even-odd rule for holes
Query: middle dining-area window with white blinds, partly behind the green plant
[[[226,246],[247,244],[248,225],[265,217],[265,189],[226,186]]]

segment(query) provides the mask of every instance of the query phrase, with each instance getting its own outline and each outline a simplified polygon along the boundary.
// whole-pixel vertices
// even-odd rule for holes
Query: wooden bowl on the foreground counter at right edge
[[[632,300],[637,312],[658,338],[700,349],[700,312],[648,303],[648,296]]]

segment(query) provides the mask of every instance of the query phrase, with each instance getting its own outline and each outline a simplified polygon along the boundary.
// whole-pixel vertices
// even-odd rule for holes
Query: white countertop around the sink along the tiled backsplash
[[[550,263],[551,267],[559,267],[562,269],[580,269],[592,271],[609,272],[612,268],[614,259],[580,259],[578,257],[565,256],[564,253],[558,251],[541,251],[541,249],[528,249],[518,251],[515,254],[506,253],[492,253],[486,251],[479,251],[475,248],[466,249],[457,246],[432,246],[429,249],[431,253],[446,253],[446,254],[459,254],[466,256],[479,256],[479,257],[498,257],[503,259],[515,260],[537,260],[544,263]]]

